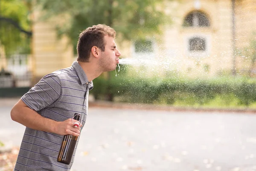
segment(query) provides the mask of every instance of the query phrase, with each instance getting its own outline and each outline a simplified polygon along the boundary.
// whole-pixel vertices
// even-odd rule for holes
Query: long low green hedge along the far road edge
[[[104,99],[107,93],[111,93],[114,99],[129,103],[209,107],[250,106],[256,103],[256,80],[244,77],[161,79],[119,74],[110,80],[96,78],[93,83],[90,93],[98,99]]]

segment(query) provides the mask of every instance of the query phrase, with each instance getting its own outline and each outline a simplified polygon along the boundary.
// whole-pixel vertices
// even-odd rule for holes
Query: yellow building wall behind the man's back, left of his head
[[[39,20],[39,12],[34,13],[32,26],[32,71],[34,83],[46,74],[71,66],[74,58],[73,47],[67,37],[58,38],[56,20]],[[34,84],[33,83],[33,84]]]

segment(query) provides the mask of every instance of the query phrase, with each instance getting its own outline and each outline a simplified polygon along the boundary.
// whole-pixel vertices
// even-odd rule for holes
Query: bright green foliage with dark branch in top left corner
[[[25,1],[1,0],[0,17],[14,21],[20,28],[29,30],[29,8]],[[14,52],[29,53],[29,37],[20,32],[10,22],[0,20],[0,44],[4,46],[7,56]]]

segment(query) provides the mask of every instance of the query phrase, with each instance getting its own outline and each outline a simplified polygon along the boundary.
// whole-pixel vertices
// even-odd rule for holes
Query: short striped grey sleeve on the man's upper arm
[[[31,109],[40,111],[52,105],[61,94],[61,83],[57,75],[44,76],[34,87],[21,97]]]

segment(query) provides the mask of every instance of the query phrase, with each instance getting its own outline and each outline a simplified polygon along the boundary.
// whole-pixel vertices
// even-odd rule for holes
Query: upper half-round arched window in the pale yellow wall
[[[183,21],[183,27],[209,27],[210,21],[207,14],[201,11],[192,11],[186,15]]]

